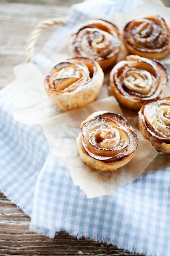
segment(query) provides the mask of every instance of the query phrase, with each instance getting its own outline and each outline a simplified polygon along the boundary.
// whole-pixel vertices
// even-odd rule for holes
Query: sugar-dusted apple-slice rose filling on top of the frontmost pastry
[[[125,120],[121,116],[107,115],[110,118],[101,114],[82,127],[82,146],[96,160],[121,161],[136,150],[138,139],[128,124],[122,125]]]

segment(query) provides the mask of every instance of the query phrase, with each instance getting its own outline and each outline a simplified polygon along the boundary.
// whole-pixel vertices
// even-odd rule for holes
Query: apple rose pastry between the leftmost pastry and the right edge
[[[167,68],[160,61],[129,55],[110,74],[110,86],[119,103],[139,111],[147,100],[159,99],[168,81]]]

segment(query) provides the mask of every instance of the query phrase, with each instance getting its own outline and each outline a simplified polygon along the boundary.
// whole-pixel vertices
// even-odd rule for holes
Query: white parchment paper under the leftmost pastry
[[[58,61],[68,58],[58,54]],[[14,87],[14,119],[26,125],[41,124],[48,118],[62,113],[48,99],[44,79],[55,63],[42,64],[40,71],[33,63],[20,64],[14,68],[17,77]]]

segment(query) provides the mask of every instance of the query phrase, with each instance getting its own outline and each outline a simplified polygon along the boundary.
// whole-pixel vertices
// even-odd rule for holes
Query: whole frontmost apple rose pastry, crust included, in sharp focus
[[[135,154],[138,137],[126,119],[99,111],[82,122],[77,146],[82,160],[92,169],[113,172]]]

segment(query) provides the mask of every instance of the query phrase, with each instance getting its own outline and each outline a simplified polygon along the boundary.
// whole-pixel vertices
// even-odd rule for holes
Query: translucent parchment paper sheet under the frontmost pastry
[[[157,155],[150,142],[143,138],[137,128],[134,128],[139,138],[139,146],[135,156],[127,165],[115,172],[103,173],[96,172],[83,163],[76,144],[80,123],[91,113],[106,110],[122,115],[116,99],[111,96],[54,116],[42,125],[56,160],[70,169],[74,184],[80,186],[88,198],[113,194],[127,182],[135,180]]]

